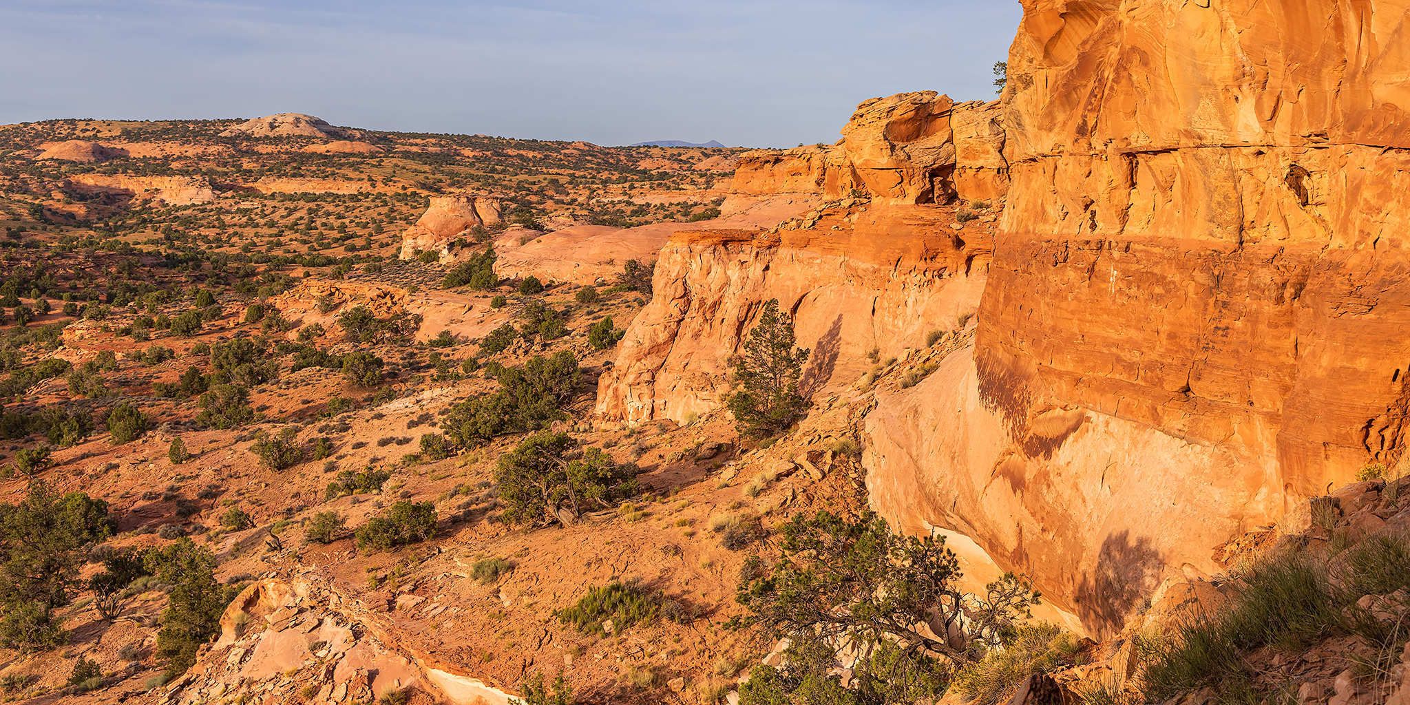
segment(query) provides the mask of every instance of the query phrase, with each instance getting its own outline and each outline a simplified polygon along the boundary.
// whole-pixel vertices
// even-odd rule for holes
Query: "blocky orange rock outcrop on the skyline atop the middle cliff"
[[[740,196],[870,196],[881,204],[949,203],[1004,193],[1008,165],[998,103],[959,103],[933,90],[857,106],[835,145],[740,155]]]

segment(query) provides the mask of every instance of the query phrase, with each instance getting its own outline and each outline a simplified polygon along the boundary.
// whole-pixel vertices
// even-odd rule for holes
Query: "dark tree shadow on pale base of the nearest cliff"
[[[1132,541],[1129,530],[1107,536],[1096,568],[1077,585],[1077,616],[1103,636],[1120,632],[1134,609],[1149,606],[1146,601],[1163,565],[1151,539],[1142,536]]]

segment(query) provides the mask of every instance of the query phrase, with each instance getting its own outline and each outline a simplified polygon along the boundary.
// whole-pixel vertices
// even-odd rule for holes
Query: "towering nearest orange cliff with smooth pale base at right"
[[[878,400],[870,485],[1112,633],[1404,462],[1410,3],[1024,6],[974,360]]]

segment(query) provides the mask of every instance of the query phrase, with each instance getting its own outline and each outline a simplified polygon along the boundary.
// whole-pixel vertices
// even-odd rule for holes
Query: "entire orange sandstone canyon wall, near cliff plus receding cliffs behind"
[[[854,372],[869,345],[953,326],[983,285],[973,347],[874,392],[871,502],[971,537],[1110,634],[1163,578],[1221,571],[1230,537],[1366,462],[1407,462],[1410,0],[1024,7],[1000,103],[869,102],[838,145],[753,152],[736,176],[746,196],[864,190],[873,219],[950,188],[1007,192],[991,244],[960,231],[946,250],[935,213],[681,235],[598,410],[718,407],[768,298],[797,312],[801,345],[839,320]]]

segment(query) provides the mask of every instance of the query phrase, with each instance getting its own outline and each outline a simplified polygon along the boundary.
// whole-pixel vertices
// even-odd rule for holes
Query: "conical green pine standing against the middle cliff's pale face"
[[[778,299],[770,299],[749,331],[744,351],[735,358],[740,389],[730,395],[729,410],[740,434],[773,436],[792,424],[808,405],[798,393],[798,381],[809,351],[794,343],[792,320],[778,313]]]

